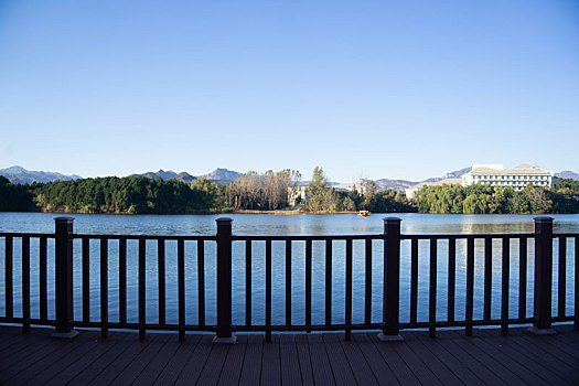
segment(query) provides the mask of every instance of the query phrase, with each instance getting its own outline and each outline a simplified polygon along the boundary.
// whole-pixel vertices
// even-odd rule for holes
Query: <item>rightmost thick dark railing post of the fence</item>
[[[535,217],[535,312],[536,334],[554,334],[551,329],[553,296],[553,217]]]

